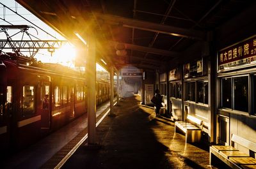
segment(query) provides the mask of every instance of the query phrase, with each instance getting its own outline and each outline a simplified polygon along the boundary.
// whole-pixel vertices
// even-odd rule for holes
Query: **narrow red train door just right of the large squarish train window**
[[[49,129],[51,125],[50,82],[41,86],[41,129]]]

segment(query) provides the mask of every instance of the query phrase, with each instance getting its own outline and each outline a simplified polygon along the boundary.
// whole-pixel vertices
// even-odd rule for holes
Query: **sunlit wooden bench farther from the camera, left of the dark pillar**
[[[186,135],[186,143],[188,142],[200,142],[201,132],[202,132],[203,121],[188,115],[187,122],[184,121],[175,121],[175,132],[177,129],[183,131]]]

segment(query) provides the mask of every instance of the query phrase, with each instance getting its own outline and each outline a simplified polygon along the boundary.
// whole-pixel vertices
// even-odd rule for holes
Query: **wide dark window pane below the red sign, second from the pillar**
[[[234,109],[248,112],[248,77],[234,78]]]

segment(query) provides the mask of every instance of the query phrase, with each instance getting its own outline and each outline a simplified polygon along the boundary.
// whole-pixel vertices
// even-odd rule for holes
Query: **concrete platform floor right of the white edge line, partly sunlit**
[[[174,124],[156,117],[140,96],[122,99],[97,127],[100,148],[81,145],[62,168],[215,168],[209,166],[209,147],[185,143]]]

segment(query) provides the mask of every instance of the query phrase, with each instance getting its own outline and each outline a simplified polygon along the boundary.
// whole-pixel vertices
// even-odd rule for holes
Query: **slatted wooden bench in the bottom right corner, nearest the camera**
[[[234,148],[234,143],[242,145],[249,150],[249,154],[245,154]],[[246,140],[237,135],[232,135],[230,145],[212,145],[210,147],[210,165],[220,159],[231,168],[256,168],[256,143]]]

